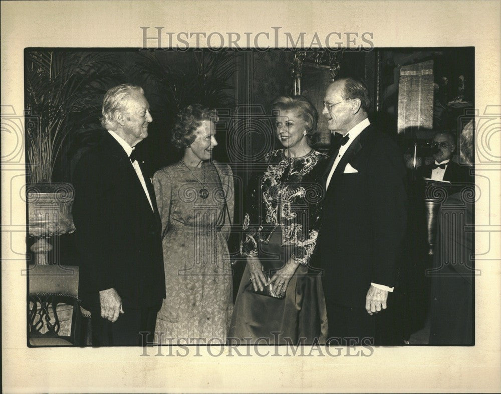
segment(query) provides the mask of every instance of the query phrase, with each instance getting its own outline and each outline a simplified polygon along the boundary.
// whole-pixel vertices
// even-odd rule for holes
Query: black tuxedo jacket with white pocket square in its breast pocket
[[[347,164],[357,172],[345,173]],[[323,269],[328,309],[333,304],[365,307],[371,282],[395,285],[406,230],[405,177],[398,146],[372,125],[341,158],[323,200],[311,261]]]

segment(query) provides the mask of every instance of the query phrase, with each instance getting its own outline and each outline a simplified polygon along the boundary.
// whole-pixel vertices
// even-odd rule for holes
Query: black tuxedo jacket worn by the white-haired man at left
[[[73,175],[80,261],[79,297],[99,306],[99,291],[115,288],[127,308],[159,307],[165,297],[161,223],[120,144],[108,133],[79,160]]]

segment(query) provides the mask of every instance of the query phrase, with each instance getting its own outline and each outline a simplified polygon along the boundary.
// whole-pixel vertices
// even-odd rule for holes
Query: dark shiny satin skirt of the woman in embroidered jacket
[[[282,234],[275,231],[268,244],[261,244],[259,258],[272,274],[284,265],[291,248],[282,246]],[[233,307],[228,341],[258,344],[325,343],[327,313],[320,276],[308,274],[300,265],[289,282],[284,298],[254,292],[248,267],[243,272]],[[304,341],[304,342],[303,342]]]

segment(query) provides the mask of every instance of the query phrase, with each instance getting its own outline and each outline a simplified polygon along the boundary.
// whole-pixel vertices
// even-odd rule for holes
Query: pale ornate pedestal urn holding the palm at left
[[[75,231],[71,208],[75,190],[70,183],[32,183],[26,186],[28,233],[35,238],[30,248],[35,264],[47,265],[54,235]]]

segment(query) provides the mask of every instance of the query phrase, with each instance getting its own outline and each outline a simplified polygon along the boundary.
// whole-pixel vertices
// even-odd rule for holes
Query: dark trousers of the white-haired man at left
[[[125,310],[117,321],[111,322],[101,317],[100,308],[91,308],[92,346],[142,346],[153,341],[156,316],[159,308]],[[140,332],[151,334],[140,334]]]

